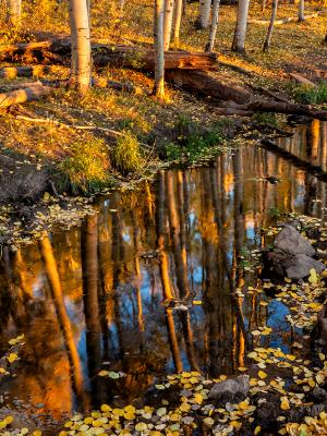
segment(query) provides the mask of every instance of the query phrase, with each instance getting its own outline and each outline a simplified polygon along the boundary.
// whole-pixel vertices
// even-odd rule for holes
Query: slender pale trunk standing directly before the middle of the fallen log
[[[155,86],[153,94],[159,99],[165,98],[164,15],[164,0],[155,0]]]

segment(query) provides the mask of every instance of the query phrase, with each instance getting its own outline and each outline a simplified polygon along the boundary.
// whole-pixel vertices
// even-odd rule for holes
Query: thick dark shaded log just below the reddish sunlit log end
[[[251,94],[241,86],[225,85],[205,71],[170,70],[166,78],[175,86],[198,92],[219,100],[233,100],[238,104],[251,101]]]

